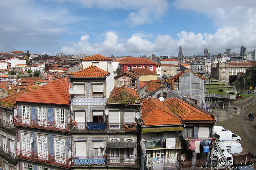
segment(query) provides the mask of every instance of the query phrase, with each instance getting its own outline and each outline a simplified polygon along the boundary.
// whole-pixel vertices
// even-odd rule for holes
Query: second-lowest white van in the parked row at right
[[[236,140],[233,141],[220,141],[218,142],[220,149],[222,152],[226,151],[229,153],[241,153],[243,152],[243,148],[239,142]]]

